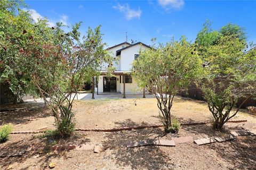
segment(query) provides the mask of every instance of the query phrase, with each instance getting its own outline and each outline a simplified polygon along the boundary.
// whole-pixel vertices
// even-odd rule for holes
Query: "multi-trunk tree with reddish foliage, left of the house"
[[[41,43],[31,41],[22,54],[29,65],[31,81],[52,109],[60,136],[67,137],[75,126],[72,107],[77,90],[87,76],[94,75],[88,73],[100,70],[102,63],[111,61],[111,57],[103,50],[100,27],[89,28],[81,40],[81,23],[75,24],[68,33],[61,29],[61,23],[51,29],[42,27],[44,24],[46,22],[39,22],[36,29],[45,29],[38,37]]]

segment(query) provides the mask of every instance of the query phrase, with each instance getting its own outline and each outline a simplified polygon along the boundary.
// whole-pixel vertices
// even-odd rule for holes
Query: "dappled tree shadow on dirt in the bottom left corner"
[[[61,158],[67,155],[67,151],[52,152],[53,145],[85,144],[90,142],[84,133],[75,133],[68,139],[54,140],[44,137],[43,134],[13,134],[11,139],[0,144],[0,169],[6,169],[9,165],[22,163],[19,169],[45,169],[51,159]],[[22,153],[20,156],[13,154]],[[28,161],[26,162],[26,160]],[[25,163],[26,162],[26,163]]]

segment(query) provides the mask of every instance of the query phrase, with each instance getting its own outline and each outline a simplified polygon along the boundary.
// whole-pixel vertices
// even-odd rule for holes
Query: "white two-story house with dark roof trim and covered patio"
[[[121,94],[137,94],[142,93],[143,89],[139,88],[135,80],[131,76],[131,67],[133,60],[139,56],[140,49],[145,50],[150,46],[141,42],[130,44],[127,42],[107,48],[110,55],[118,59],[117,63],[113,63],[116,71],[113,77],[107,77],[102,71],[99,81],[95,84],[95,92],[97,94],[120,92]]]

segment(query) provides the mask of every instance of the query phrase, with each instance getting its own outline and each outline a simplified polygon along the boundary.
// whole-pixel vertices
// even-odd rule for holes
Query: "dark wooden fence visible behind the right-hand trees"
[[[185,91],[181,91],[179,93],[179,95],[183,96],[183,97],[189,97],[192,99],[196,99],[196,100],[205,100],[203,97],[203,92],[201,89],[196,88],[195,84],[190,84],[189,89],[185,90]],[[239,105],[241,105],[244,101],[244,98],[241,98],[238,100],[238,102],[236,103],[236,106],[238,107]],[[248,106],[256,106],[256,100],[249,98],[243,105],[242,108],[246,108]]]

